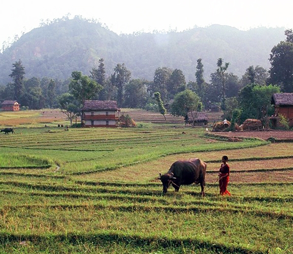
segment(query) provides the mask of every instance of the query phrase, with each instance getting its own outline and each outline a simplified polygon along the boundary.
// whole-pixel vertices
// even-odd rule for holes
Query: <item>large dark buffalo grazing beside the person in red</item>
[[[163,184],[162,193],[167,193],[170,184],[172,184],[175,191],[178,192],[181,185],[188,185],[194,182],[201,184],[202,196],[204,197],[206,170],[207,164],[199,158],[174,162],[165,175],[159,174],[158,179],[161,180]]]

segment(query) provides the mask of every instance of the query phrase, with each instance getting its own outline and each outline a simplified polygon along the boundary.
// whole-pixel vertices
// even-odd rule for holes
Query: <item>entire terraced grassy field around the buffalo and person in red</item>
[[[31,113],[10,113],[15,134],[0,135],[0,253],[293,253],[292,143],[181,123],[65,131]],[[218,194],[224,154],[231,197]],[[190,157],[208,163],[206,197],[161,196],[158,174]]]

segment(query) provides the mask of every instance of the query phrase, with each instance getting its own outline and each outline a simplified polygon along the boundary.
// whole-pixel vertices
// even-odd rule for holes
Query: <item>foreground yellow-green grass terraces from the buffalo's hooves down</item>
[[[228,198],[218,196],[215,185],[202,198],[194,186],[161,196],[158,183],[25,179],[1,182],[0,241],[9,247],[19,239],[37,249],[51,241],[49,249],[57,253],[54,241],[73,249],[81,247],[78,242],[89,244],[92,250],[122,241],[113,253],[120,248],[180,253],[183,246],[190,253],[192,248],[196,253],[198,248],[203,253],[265,253],[293,244],[287,237],[293,220],[292,184],[280,184],[278,190],[269,183],[231,184],[233,196]]]

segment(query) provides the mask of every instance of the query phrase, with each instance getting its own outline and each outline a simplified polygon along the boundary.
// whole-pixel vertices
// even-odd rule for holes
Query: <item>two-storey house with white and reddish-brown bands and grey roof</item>
[[[116,101],[85,101],[82,108],[83,127],[116,127],[118,112]]]

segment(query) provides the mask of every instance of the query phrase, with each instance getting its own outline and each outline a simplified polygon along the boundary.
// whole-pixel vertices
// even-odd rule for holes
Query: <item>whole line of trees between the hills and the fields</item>
[[[239,78],[229,73],[229,62],[218,58],[209,82],[204,78],[202,58],[194,68],[194,81],[188,82],[181,70],[168,67],[157,68],[151,81],[132,79],[124,63],[117,63],[113,73],[106,77],[103,58],[88,76],[74,71],[71,78],[63,81],[47,77],[26,79],[25,67],[19,60],[12,65],[9,75],[12,82],[0,87],[0,100],[17,100],[22,109],[61,108],[70,116],[79,112],[85,100],[115,100],[119,107],[160,112],[165,112],[162,105],[177,104],[169,108],[173,115],[185,116],[191,109],[218,107],[228,120],[233,116],[238,122],[262,119],[264,114],[272,112],[273,93],[293,92],[292,29],[285,30],[285,36],[286,40],[271,50],[269,71],[261,66],[249,66]],[[178,98],[185,101],[193,98],[190,100],[197,103],[192,107],[181,105]]]

